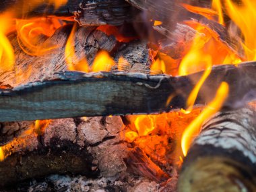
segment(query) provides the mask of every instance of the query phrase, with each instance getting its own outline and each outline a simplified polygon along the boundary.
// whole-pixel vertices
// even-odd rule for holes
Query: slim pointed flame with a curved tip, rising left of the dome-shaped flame
[[[77,25],[74,24],[69,38],[67,39],[67,43],[65,46],[65,59],[67,62],[67,69],[69,71],[83,71],[88,73],[89,72],[89,65],[84,57],[81,60],[78,60],[75,55],[75,31],[77,30]]]

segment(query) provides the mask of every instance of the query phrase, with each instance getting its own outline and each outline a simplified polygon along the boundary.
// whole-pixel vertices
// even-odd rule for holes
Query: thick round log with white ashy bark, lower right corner
[[[255,191],[255,117],[247,106],[206,121],[183,164],[179,191]]]

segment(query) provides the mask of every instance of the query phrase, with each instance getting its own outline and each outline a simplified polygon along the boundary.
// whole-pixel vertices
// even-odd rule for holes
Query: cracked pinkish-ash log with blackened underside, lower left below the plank
[[[113,177],[126,170],[127,147],[121,142],[120,117],[57,119],[43,134],[32,129],[3,146],[0,189],[49,174]]]

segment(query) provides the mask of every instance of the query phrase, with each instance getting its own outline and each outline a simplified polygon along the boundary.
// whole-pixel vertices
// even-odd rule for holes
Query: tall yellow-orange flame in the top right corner
[[[245,54],[247,61],[256,60],[256,1],[242,0],[242,3],[236,5],[231,0],[224,0],[226,11],[232,21],[240,28],[245,38]]]

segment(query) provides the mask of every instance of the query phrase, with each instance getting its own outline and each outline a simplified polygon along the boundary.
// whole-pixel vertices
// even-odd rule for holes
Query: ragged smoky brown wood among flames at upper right
[[[241,40],[238,37],[230,36],[228,30],[218,22],[214,20],[208,20],[203,15],[199,15],[197,13],[192,13],[185,9],[181,3],[187,3],[189,5],[194,5],[198,7],[207,7],[210,8],[212,1],[160,1],[160,3],[155,3],[155,1],[138,1],[138,0],[127,0],[131,5],[141,9],[143,11],[144,22],[148,20],[158,20],[162,22],[162,24],[153,26],[155,30],[165,35],[169,40],[166,42],[169,46],[181,46],[182,44],[177,44],[177,33],[175,31],[179,31],[181,28],[180,24],[184,24],[186,21],[193,21],[201,24],[205,28],[209,29],[214,35],[213,37],[216,40],[222,42],[229,51],[236,53],[239,57],[244,57],[243,46],[241,45]],[[146,18],[146,20],[145,20]],[[195,31],[192,28],[185,28],[187,32],[183,33],[183,36],[190,32],[190,34],[195,34]],[[187,45],[187,44],[186,44]],[[184,49],[185,46],[181,46],[181,49]],[[168,50],[168,49],[167,49]],[[179,49],[178,49],[179,50]],[[181,50],[182,51],[182,50]],[[163,52],[166,53],[163,49]],[[168,53],[168,52],[167,52]],[[173,53],[172,53],[173,55]],[[170,55],[170,56],[172,56]],[[177,57],[177,56],[175,56]],[[173,57],[173,59],[176,59]]]

